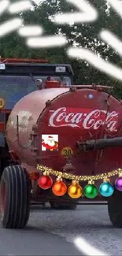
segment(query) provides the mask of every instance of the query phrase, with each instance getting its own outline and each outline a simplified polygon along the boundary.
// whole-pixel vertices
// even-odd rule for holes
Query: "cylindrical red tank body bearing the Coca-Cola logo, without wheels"
[[[37,131],[31,136],[34,124]],[[54,150],[50,150],[53,144],[48,144],[47,139],[51,138],[46,135],[58,135],[58,145],[55,143],[52,147]],[[71,162],[75,169],[72,172],[78,175],[105,173],[122,167],[122,147],[80,152],[76,149],[76,141],[120,136],[121,103],[113,96],[93,89],[51,88],[32,92],[14,106],[6,127],[9,150],[17,154],[28,171],[36,168],[37,160],[62,170],[66,164],[62,150],[68,147],[73,153]],[[35,138],[33,144],[31,138]],[[42,146],[42,139],[43,145],[49,147]]]

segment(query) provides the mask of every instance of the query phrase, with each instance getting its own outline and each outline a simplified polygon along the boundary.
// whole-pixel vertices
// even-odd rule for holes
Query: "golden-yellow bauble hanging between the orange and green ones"
[[[72,185],[68,187],[68,195],[71,198],[79,198],[83,195],[83,189],[79,186],[79,181],[72,180]]]

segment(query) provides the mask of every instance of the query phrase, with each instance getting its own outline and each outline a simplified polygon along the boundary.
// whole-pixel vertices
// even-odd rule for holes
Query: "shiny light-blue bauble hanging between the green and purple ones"
[[[113,195],[114,187],[109,182],[103,182],[99,187],[99,192],[102,196],[109,197]]]

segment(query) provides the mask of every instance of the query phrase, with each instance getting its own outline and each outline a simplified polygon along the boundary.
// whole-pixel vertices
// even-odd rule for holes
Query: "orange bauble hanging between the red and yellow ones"
[[[65,193],[67,191],[67,186],[62,181],[61,176],[57,177],[57,180],[52,187],[52,191],[53,191],[54,195],[57,195],[57,196],[65,195]]]

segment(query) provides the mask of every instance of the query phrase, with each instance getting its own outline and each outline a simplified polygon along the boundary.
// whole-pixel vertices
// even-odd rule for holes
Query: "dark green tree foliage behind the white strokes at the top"
[[[16,1],[14,0],[13,2]],[[13,32],[0,39],[0,54],[2,57],[46,58],[52,63],[70,63],[75,73],[74,82],[76,84],[96,83],[114,85],[116,83],[114,94],[122,98],[120,82],[94,69],[84,61],[68,58],[66,54],[68,46],[72,46],[75,42],[79,46],[94,50],[94,52],[99,53],[105,60],[120,66],[120,57],[112,48],[103,43],[98,36],[102,28],[107,28],[120,37],[122,35],[120,17],[116,15],[112,8],[106,13],[107,6],[106,2],[103,0],[93,0],[92,4],[98,9],[98,20],[93,23],[74,25],[54,24],[54,22],[50,20],[50,17],[53,18],[56,13],[77,11],[74,6],[65,0],[46,0],[39,6],[34,4],[33,10],[20,14],[24,19],[24,24],[38,24],[42,26],[44,30],[43,35],[57,35],[61,32],[61,34],[66,35],[68,39],[67,45],[65,47],[33,49],[26,46],[26,40],[21,38],[17,32]],[[0,21],[2,23],[12,17],[10,17],[9,13],[6,13],[0,18]]]

